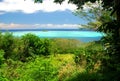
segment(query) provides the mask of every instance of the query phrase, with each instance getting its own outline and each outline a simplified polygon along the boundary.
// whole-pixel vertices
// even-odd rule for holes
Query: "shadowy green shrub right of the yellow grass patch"
[[[103,53],[103,47],[100,42],[91,42],[86,47],[75,51],[75,63],[84,66],[87,71],[97,71],[100,69]]]

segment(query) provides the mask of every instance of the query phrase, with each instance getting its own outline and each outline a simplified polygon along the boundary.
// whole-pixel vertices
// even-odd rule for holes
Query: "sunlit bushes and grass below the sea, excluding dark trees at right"
[[[100,41],[81,43],[33,34],[14,37],[8,32],[0,33],[0,40],[0,81],[92,81],[101,77],[96,74],[103,58]]]

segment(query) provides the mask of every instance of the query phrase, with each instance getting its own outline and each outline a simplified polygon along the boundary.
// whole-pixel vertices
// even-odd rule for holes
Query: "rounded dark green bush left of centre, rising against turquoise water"
[[[21,40],[23,41],[22,57],[30,57],[35,55],[50,55],[51,41],[49,39],[40,39],[36,35],[26,34]]]

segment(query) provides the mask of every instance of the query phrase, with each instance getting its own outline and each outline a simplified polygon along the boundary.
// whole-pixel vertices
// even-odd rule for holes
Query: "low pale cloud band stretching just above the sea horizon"
[[[0,29],[78,29],[78,24],[15,24],[0,23]]]

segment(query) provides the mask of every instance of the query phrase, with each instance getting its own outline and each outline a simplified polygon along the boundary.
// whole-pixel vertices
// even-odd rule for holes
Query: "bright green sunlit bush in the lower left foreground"
[[[44,56],[24,63],[9,59],[8,65],[2,68],[1,77],[4,76],[9,81],[58,81],[58,69],[54,68],[50,60]]]

